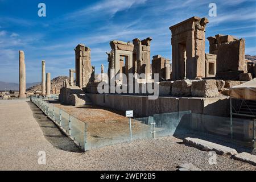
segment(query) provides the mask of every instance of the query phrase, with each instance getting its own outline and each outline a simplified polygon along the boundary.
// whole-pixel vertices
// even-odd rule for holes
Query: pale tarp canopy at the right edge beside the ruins
[[[230,88],[230,97],[256,101],[256,78]]]

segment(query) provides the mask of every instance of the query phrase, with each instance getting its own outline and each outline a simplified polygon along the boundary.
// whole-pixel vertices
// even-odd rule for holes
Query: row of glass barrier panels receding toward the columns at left
[[[82,151],[88,150],[86,148],[87,131],[85,122],[54,106],[54,104],[49,104],[43,98],[31,97],[31,101],[70,137]]]

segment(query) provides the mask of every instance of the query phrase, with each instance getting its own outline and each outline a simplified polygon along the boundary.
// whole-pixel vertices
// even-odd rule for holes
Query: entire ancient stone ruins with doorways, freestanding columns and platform
[[[91,49],[84,44],[77,45],[74,49],[76,68],[69,69],[69,79],[63,82],[59,100],[75,106],[93,104],[134,110],[137,115],[184,110],[227,115],[229,88],[252,80],[256,67],[245,59],[245,39],[232,35],[207,38],[209,53],[206,53],[208,23],[207,18],[194,16],[171,26],[171,60],[161,55],[152,56],[151,60],[152,38],[135,38],[132,42],[112,40],[106,53],[108,72],[104,73],[102,65],[97,78],[91,63]],[[20,51],[19,97],[26,96],[24,70],[24,53]],[[45,74],[45,61],[42,61],[41,94],[49,96],[50,74],[47,73],[47,79]],[[129,77],[131,74],[133,77]],[[149,88],[157,88],[159,96],[154,100],[148,99],[152,94]],[[121,94],[117,90],[121,90]]]

